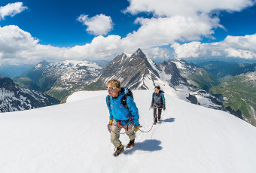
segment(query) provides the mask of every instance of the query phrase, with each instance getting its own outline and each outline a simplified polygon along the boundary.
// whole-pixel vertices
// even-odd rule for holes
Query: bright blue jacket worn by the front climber
[[[129,125],[130,123],[134,122],[134,126],[139,126],[139,110],[136,107],[136,103],[133,101],[133,98],[130,96],[127,96],[126,98],[126,104],[128,109],[124,108],[121,104],[122,97],[125,95],[126,88],[121,88],[119,96],[114,99],[110,96],[110,104],[108,104],[108,96],[106,97],[106,103],[108,105],[108,111],[109,111],[109,120],[115,120],[118,122],[121,121],[121,125]],[[109,106],[110,105],[110,106]],[[133,114],[133,121],[129,122],[129,119],[132,117]],[[127,122],[123,122],[126,121]],[[128,123],[128,124],[126,124]]]

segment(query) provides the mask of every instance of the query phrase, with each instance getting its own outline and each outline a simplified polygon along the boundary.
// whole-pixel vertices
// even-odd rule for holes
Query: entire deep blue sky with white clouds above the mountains
[[[0,2],[0,60],[109,60],[138,48],[152,59],[256,59],[255,3],[4,0]]]

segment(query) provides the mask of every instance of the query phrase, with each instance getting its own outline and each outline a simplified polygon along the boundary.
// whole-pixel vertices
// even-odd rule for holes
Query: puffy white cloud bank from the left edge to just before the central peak
[[[75,47],[42,45],[37,38],[18,26],[0,26],[0,61],[38,62],[60,59],[113,59],[123,52],[118,35],[102,35],[93,38],[90,44]]]

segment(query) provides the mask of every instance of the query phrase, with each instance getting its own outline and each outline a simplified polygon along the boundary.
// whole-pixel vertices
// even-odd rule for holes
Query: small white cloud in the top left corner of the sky
[[[0,7],[0,20],[5,20],[5,17],[14,17],[16,14],[20,14],[22,11],[28,9],[23,6],[23,2],[9,3],[8,5]]]

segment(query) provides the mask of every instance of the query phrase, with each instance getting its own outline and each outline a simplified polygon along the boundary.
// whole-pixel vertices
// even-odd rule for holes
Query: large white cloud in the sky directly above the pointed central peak
[[[141,48],[169,45],[175,41],[200,40],[202,36],[211,37],[213,28],[221,27],[218,18],[203,14],[197,17],[138,18],[136,23],[142,26],[123,40]]]

